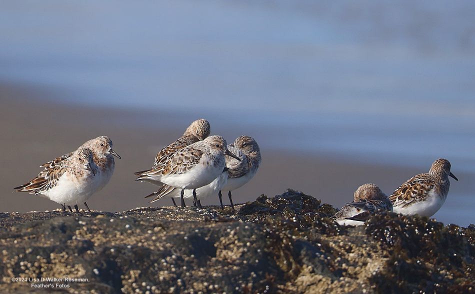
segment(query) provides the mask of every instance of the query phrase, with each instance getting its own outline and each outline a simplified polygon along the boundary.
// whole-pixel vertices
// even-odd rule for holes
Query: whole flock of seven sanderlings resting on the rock
[[[83,203],[101,190],[114,170],[112,140],[99,136],[83,143],[77,150],[56,157],[42,165],[39,174],[14,188],[38,194],[59,203],[65,211]],[[227,192],[234,211],[232,191],[247,183],[261,163],[260,149],[254,138],[241,135],[227,145],[219,135],[210,135],[206,119],[193,121],[175,141],[158,151],[151,168],[134,172],[137,181],[157,186],[145,196],[150,202],[179,198],[180,206],[192,199],[202,208],[201,200],[218,196],[223,208],[222,194]],[[440,158],[432,163],[428,173],[417,174],[400,185],[389,197],[372,183],[359,186],[353,201],[346,203],[331,218],[342,225],[361,225],[375,211],[387,210],[405,215],[432,216],[444,203],[451,176],[450,162]]]

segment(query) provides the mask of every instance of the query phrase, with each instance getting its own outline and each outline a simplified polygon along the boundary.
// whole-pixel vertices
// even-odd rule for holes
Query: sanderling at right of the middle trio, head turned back
[[[228,191],[229,202],[231,203],[232,210],[234,210],[231,191],[241,187],[255,175],[262,159],[260,157],[259,145],[250,136],[243,135],[237,137],[234,143],[229,145],[229,150],[236,153],[240,161],[226,158],[226,166],[229,169],[227,182],[218,192],[218,197],[221,208],[223,208],[221,191]]]

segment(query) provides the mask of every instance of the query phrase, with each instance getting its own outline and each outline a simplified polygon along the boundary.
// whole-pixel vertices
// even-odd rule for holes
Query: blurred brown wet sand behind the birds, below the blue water
[[[0,211],[59,208],[58,204],[37,195],[13,193],[12,188],[34,177],[40,171],[40,164],[104,134],[113,140],[114,150],[122,159],[116,159],[115,172],[108,185],[87,201],[89,207],[122,211],[149,205],[143,196],[152,192],[155,186],[135,182],[133,171],[151,166],[156,152],[178,137],[188,123],[198,117],[113,106],[89,108],[58,104],[48,100],[48,96],[54,94],[57,93],[41,88],[0,84]],[[156,123],[150,123],[153,121]],[[228,141],[236,134],[249,131],[238,127],[226,129],[217,126],[218,122],[210,123],[212,133],[221,134]],[[256,140],[259,142],[258,137]],[[233,192],[235,203],[254,200],[262,193],[273,196],[292,188],[320,198],[322,202],[341,206],[352,198],[353,191],[360,184],[374,182],[390,194],[411,175],[424,172],[413,167],[374,165],[327,154],[298,154],[278,148],[262,148],[261,152],[263,161],[258,173],[248,184]],[[460,181],[452,182],[445,205],[450,202],[451,194],[463,195],[475,189],[475,183],[469,180],[473,175],[455,174]],[[462,181],[463,185],[459,184]],[[224,203],[229,203],[227,197],[223,199]],[[218,199],[216,196],[202,202],[217,204]],[[168,206],[171,200],[163,199],[151,205]],[[457,222],[455,215],[447,217],[446,214],[450,215],[443,214],[441,221]]]

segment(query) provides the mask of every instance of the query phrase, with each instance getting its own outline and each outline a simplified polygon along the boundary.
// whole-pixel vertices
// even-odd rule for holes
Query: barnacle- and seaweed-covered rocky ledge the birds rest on
[[[339,226],[287,190],[236,205],[0,213],[1,292],[475,292],[475,226]]]

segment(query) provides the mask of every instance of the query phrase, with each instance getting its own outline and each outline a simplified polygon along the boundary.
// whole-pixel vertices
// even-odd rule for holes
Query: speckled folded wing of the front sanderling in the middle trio
[[[203,151],[193,146],[187,146],[173,153],[173,156],[169,156],[168,160],[162,162],[156,168],[143,172],[142,175],[157,176],[160,174],[167,175],[184,173],[195,166],[203,154]],[[140,177],[137,179],[140,179]]]

